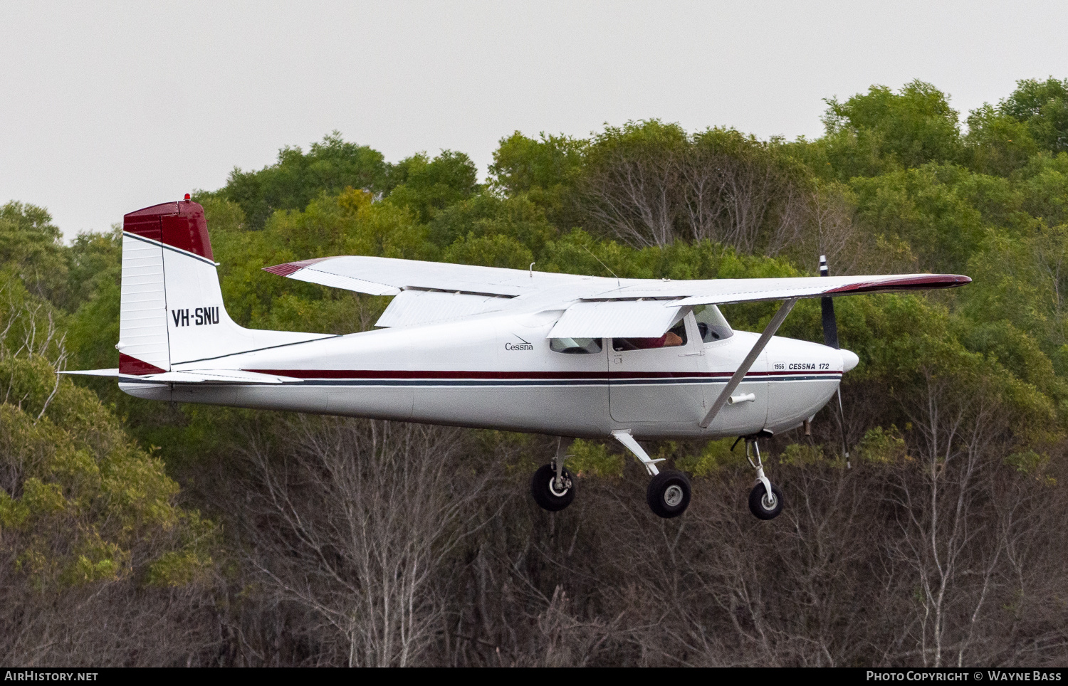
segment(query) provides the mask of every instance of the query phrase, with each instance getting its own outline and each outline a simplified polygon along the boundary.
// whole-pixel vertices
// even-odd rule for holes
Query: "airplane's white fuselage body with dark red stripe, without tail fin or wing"
[[[590,354],[550,350],[562,310],[492,314],[391,328],[227,355],[213,364],[302,379],[277,385],[169,384],[124,377],[126,393],[354,417],[603,437],[682,438],[773,433],[812,417],[834,395],[843,354],[774,337],[707,429],[700,427],[757,334],[703,342],[687,315],[687,342]],[[204,367],[203,361],[173,370]],[[752,395],[752,399],[748,399]]]

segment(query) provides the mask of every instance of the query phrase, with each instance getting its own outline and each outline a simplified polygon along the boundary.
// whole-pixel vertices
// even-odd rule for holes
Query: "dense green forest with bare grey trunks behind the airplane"
[[[119,228],[67,244],[44,208],[0,207],[0,661],[1063,666],[1068,80],[963,121],[931,84],[871,86],[823,124],[515,132],[485,182],[460,151],[390,163],[335,132],[194,195],[255,328],[370,329],[386,299],[261,271],[336,254],[713,278],[814,275],[824,253],[838,274],[972,276],[837,301],[861,358],[850,456],[830,409],[771,441],[771,522],[729,441],[649,446],[693,476],[677,520],[615,445],[577,442],[578,497],[550,514],[528,494],[550,436],[58,377],[117,366]],[[774,307],[724,314],[759,331]],[[781,333],[821,340],[818,304]]]

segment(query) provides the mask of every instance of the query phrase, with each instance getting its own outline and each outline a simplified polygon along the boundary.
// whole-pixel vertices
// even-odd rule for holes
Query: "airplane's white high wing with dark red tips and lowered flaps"
[[[379,326],[408,326],[508,309],[566,310],[550,337],[656,337],[684,308],[962,286],[959,274],[671,281],[610,278],[389,257],[323,257],[266,267],[299,281],[397,296]]]

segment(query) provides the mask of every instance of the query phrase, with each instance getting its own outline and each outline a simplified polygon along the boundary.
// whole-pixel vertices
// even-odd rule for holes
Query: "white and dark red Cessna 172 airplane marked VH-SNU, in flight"
[[[952,274],[670,281],[343,256],[266,267],[298,281],[392,296],[379,329],[349,335],[257,331],[227,316],[203,208],[189,200],[126,214],[115,378],[152,400],[290,410],[560,436],[534,499],[567,507],[576,437],[612,437],[651,480],[662,517],[690,482],[638,440],[745,438],[750,509],[776,516],[757,440],[808,421],[858,357],[839,350],[832,297],[969,283]],[[801,298],[823,299],[824,342],[775,336]],[[782,301],[763,333],[717,305]],[[750,448],[753,448],[751,451]],[[755,452],[755,457],[752,454]]]

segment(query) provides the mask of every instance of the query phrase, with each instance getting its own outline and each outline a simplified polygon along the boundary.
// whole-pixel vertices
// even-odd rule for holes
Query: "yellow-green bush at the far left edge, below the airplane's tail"
[[[162,461],[139,448],[92,390],[57,376],[62,338],[47,334],[61,313],[10,273],[0,292],[5,578],[37,592],[126,578],[208,580],[215,526],[177,505]]]

